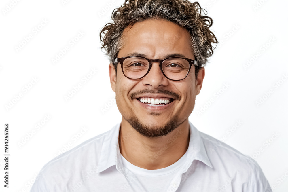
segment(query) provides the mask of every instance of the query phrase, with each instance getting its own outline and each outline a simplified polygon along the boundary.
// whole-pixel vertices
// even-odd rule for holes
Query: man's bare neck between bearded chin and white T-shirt
[[[161,169],[178,161],[188,149],[188,118],[170,134],[147,138],[122,117],[119,131],[120,153],[127,161],[144,169]]]

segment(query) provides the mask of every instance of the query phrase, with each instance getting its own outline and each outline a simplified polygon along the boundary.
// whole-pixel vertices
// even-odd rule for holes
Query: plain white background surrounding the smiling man
[[[65,2],[26,0],[13,5],[10,0],[1,1],[0,154],[4,154],[4,124],[9,123],[11,156],[9,189],[3,187],[4,156],[0,158],[0,191],[29,191],[29,182],[34,182],[40,169],[59,150],[65,151],[65,145],[71,142],[72,149],[121,121],[116,103],[110,102],[115,93],[109,81],[109,59],[100,50],[99,32],[124,0]],[[288,2],[199,3],[214,20],[212,30],[221,43],[205,68],[204,84],[189,120],[198,130],[252,156],[274,191],[287,191],[288,80],[283,75],[288,75]],[[85,35],[71,46],[69,41],[79,31]],[[32,38],[16,50],[30,34]],[[69,50],[53,64],[52,59],[65,46]],[[247,60],[253,61],[250,66]],[[90,76],[91,69],[97,73]],[[89,81],[82,81],[84,77],[90,77]],[[33,78],[37,82],[30,84]],[[82,87],[66,101],[65,96],[78,83]],[[228,88],[223,91],[225,83]],[[29,90],[25,86],[30,86]],[[217,91],[221,95],[216,96]],[[21,93],[22,97],[17,97]],[[209,103],[211,99],[213,103]],[[7,108],[9,103],[11,108]],[[202,114],[197,113],[201,109]],[[45,115],[51,117],[47,122]],[[229,134],[237,121],[241,125]],[[37,129],[37,123],[43,125]],[[84,126],[88,130],[79,134]],[[81,136],[75,139],[77,133]],[[278,136],[272,138],[273,134]],[[266,140],[269,145],[264,143]],[[277,180],[281,176],[284,180]]]

